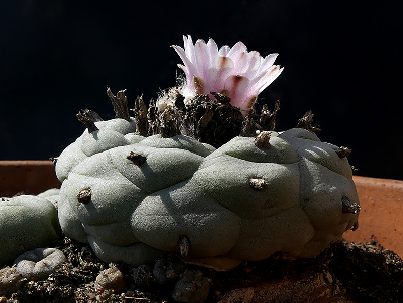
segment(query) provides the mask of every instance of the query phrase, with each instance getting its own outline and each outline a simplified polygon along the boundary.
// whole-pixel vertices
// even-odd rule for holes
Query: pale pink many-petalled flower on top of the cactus
[[[263,58],[256,51],[248,52],[245,44],[225,45],[218,49],[213,39],[197,40],[193,46],[190,35],[183,36],[185,49],[172,45],[184,65],[186,84],[181,93],[186,98],[219,92],[231,98],[231,104],[246,116],[258,95],[283,71],[273,65],[278,54]],[[209,94],[211,99],[213,95]]]

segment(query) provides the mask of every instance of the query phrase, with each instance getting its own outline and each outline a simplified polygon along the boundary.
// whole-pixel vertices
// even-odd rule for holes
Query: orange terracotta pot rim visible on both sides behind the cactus
[[[354,177],[361,203],[359,228],[347,231],[348,241],[367,242],[376,238],[380,245],[403,256],[403,181]],[[38,194],[58,187],[51,161],[0,161],[0,196],[23,192]]]

